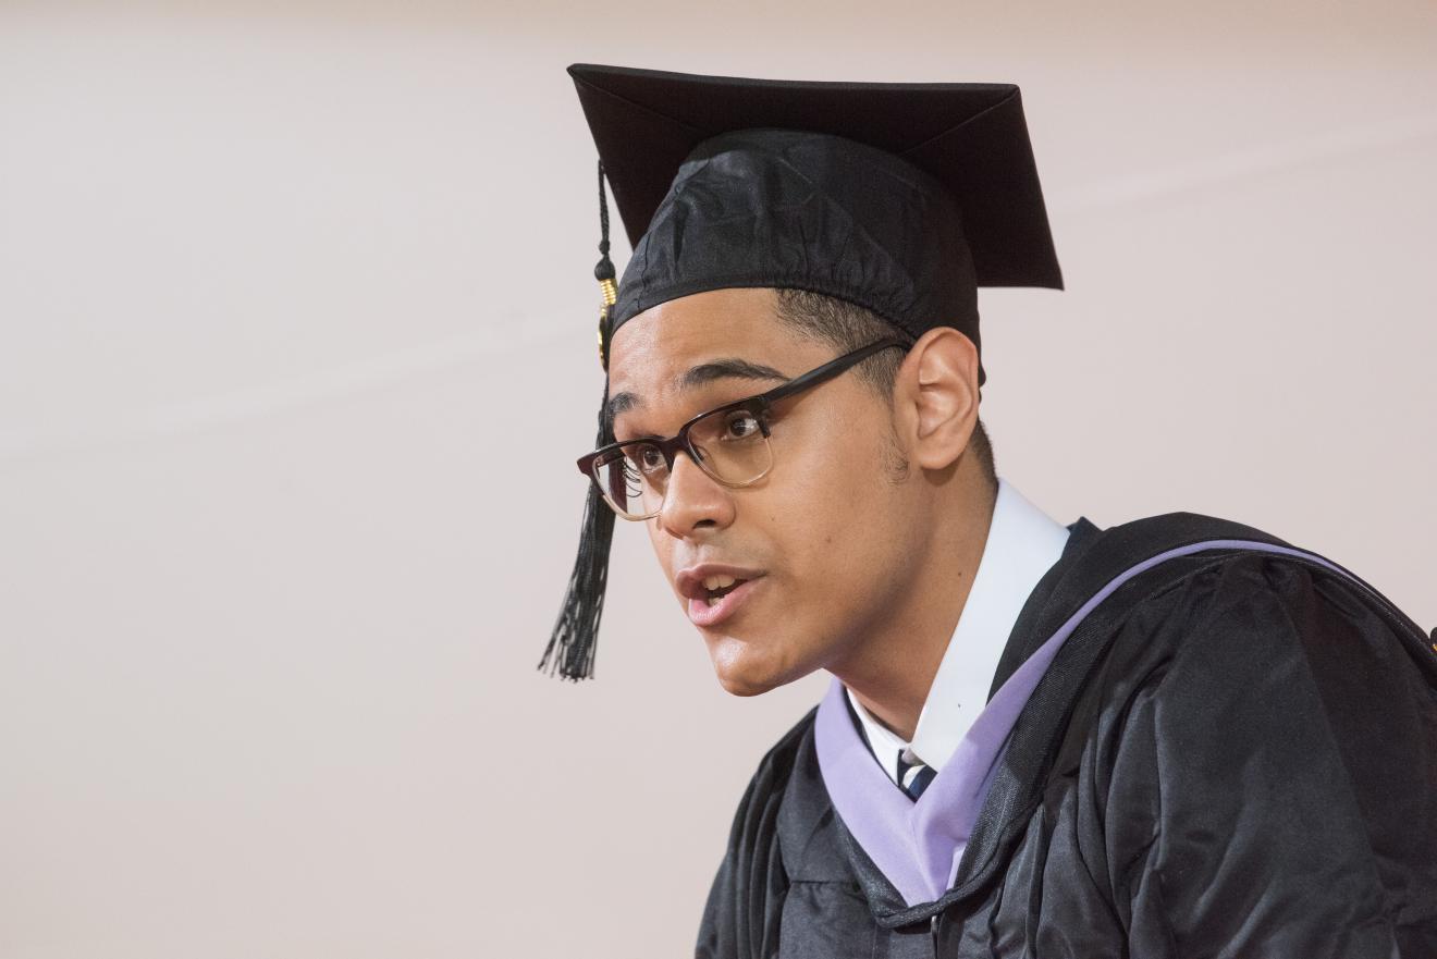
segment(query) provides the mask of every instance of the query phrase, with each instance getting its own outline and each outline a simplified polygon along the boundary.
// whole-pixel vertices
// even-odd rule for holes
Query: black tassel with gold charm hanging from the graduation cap
[[[609,309],[615,300],[614,262],[609,260],[609,201],[604,193],[604,161],[599,161],[599,262],[593,279],[599,280],[599,362],[604,365],[604,401],[599,404],[599,434],[593,449],[614,441],[605,407],[609,395]],[[592,482],[589,499],[583,505],[583,525],[579,528],[579,555],[569,574],[569,589],[563,608],[553,624],[549,646],[545,647],[539,669],[550,676],[581,680],[593,677],[593,650],[599,641],[599,620],[604,617],[604,589],[609,578],[609,545],[616,519],[604,495]]]

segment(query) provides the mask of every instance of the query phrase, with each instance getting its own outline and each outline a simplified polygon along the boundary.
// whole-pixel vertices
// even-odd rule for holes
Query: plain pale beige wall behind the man
[[[723,694],[637,528],[599,680],[533,670],[573,60],[1017,82],[1069,289],[983,298],[1000,472],[1437,623],[1430,0],[395,7],[0,4],[0,956],[690,950],[822,680]]]

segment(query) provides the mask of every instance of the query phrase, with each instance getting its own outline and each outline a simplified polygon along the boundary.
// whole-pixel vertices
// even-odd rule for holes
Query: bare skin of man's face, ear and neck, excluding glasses
[[[696,365],[743,359],[792,378],[839,354],[782,324],[775,306],[772,289],[718,289],[625,322],[611,344],[609,397],[634,403],[616,414],[615,437],[673,436],[698,413],[782,382],[724,377],[681,388]],[[892,404],[856,368],[780,401],[773,467],[752,486],[724,486],[675,457],[662,510],[641,522],[681,608],[684,568],[762,572],[734,615],[696,627],[726,690],[752,696],[828,669],[879,717],[917,716],[992,513],[964,456],[976,384],[971,341],[937,328],[904,358]],[[927,677],[905,679],[915,670]]]

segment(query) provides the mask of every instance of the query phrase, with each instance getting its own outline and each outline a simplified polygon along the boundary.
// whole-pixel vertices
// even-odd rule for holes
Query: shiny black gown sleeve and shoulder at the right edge
[[[1352,581],[1270,554],[1132,610],[1053,772],[1092,789],[1083,871],[1134,955],[1437,955],[1427,657]]]

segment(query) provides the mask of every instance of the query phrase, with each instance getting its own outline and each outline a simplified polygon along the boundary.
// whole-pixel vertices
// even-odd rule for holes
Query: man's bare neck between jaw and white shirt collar
[[[954,490],[957,492],[957,490]],[[828,670],[878,722],[911,740],[938,663],[967,605],[993,522],[996,495],[966,483],[957,502],[937,510],[927,549],[901,572],[902,588],[862,638]]]

